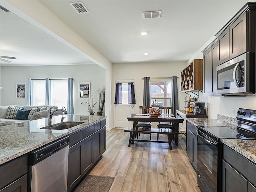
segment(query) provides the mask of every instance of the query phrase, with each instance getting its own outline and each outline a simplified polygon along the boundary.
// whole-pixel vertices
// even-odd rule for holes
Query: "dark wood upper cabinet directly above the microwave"
[[[255,52],[256,3],[247,3],[215,35],[218,37],[218,64],[245,52]]]

